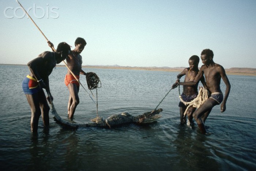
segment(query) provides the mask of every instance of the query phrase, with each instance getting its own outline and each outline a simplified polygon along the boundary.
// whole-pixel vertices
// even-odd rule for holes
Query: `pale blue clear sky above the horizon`
[[[226,69],[256,68],[255,0],[19,2],[31,7],[31,18],[55,47],[65,41],[73,49],[75,39],[84,38],[83,65],[187,67],[189,57],[210,48]],[[15,0],[0,0],[0,63],[26,64],[50,51],[17,7]]]

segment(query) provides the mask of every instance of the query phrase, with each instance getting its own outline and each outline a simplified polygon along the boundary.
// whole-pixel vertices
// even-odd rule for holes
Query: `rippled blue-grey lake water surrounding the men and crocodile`
[[[176,80],[175,72],[84,69],[97,73],[99,116],[153,110]],[[68,89],[65,67],[50,75],[54,105],[67,117]],[[228,75],[231,93],[227,110],[215,106],[206,120],[210,136],[197,126],[180,125],[178,89],[159,108],[162,118],[149,125],[124,125],[112,129],[69,130],[55,123],[50,130],[39,119],[38,136],[30,133],[30,108],[21,83],[27,66],[0,65],[0,168],[1,170],[255,170],[256,77]],[[82,84],[87,88],[85,77]],[[222,85],[223,92],[225,85]],[[93,90],[96,94],[96,91]],[[87,123],[96,116],[96,105],[83,89],[74,121]]]

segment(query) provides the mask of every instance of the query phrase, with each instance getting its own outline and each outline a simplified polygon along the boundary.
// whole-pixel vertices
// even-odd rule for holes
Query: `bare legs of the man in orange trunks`
[[[68,117],[72,119],[76,110],[76,106],[79,104],[79,87],[77,87],[76,84],[70,83],[68,85],[68,90],[70,94],[68,101]]]

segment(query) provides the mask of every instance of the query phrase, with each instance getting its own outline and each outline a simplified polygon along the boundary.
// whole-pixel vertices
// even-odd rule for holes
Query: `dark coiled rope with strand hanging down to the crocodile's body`
[[[89,72],[86,73],[86,82],[87,82],[87,86],[88,89],[94,90],[96,89],[96,99],[97,99],[97,118],[98,118],[98,90],[97,88],[101,88],[101,80],[99,79],[98,75],[93,73],[93,72]],[[99,85],[100,83],[100,85]],[[91,94],[93,94],[93,92],[91,92]]]

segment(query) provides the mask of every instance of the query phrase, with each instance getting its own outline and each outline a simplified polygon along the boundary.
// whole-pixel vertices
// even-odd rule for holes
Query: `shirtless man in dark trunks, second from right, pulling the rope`
[[[188,60],[189,67],[185,68],[180,74],[177,75],[177,81],[172,86],[173,89],[178,86],[178,82],[180,81],[180,78],[183,75],[185,75],[184,82],[194,81],[194,79],[199,71],[199,69],[198,69],[199,61],[200,61],[200,59],[197,55],[193,55],[192,57],[189,58],[189,60]],[[200,81],[202,82],[202,84],[204,86],[206,86],[204,77],[202,77]],[[197,82],[196,85],[193,85],[193,86],[183,86],[183,92],[181,94],[182,100],[184,100],[185,102],[190,102],[197,97],[198,83],[199,82]],[[185,124],[186,117],[184,117],[184,112],[187,109],[187,106],[185,104],[183,104],[181,101],[178,106],[180,107],[180,123]],[[188,120],[190,123],[192,123],[192,119],[193,119],[192,113],[195,110],[196,110],[196,108],[194,108],[192,106],[187,110],[187,116],[188,116]]]

